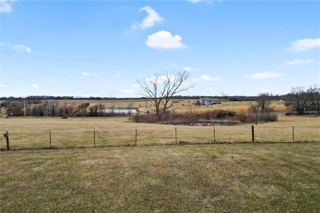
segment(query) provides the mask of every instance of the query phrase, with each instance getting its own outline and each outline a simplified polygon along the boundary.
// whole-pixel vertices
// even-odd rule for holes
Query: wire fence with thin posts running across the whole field
[[[204,127],[204,126],[203,126]],[[319,129],[306,127],[192,126],[166,129],[8,131],[0,149],[135,146],[148,144],[226,142],[320,142]]]

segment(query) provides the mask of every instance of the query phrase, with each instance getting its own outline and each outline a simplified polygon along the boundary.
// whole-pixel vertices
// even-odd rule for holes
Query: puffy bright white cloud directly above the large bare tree
[[[158,31],[148,35],[146,45],[151,48],[169,49],[169,48],[184,48],[185,45],[181,43],[180,35],[173,35],[168,31]]]

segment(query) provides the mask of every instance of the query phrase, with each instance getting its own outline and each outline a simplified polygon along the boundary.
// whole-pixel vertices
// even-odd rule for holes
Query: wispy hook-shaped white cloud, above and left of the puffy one
[[[150,6],[144,6],[139,9],[140,11],[146,11],[148,16],[146,16],[141,23],[134,23],[130,26],[132,29],[140,27],[141,29],[152,27],[155,22],[160,22],[163,18]]]

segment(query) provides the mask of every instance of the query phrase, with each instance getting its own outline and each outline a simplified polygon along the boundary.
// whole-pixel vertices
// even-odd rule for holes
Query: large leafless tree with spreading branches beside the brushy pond
[[[137,80],[137,84],[143,91],[141,95],[149,98],[154,107],[149,109],[155,111],[156,115],[160,115],[182,100],[181,98],[173,99],[174,95],[193,87],[193,85],[182,87],[182,83],[188,77],[189,73],[186,71],[155,73],[152,77]]]

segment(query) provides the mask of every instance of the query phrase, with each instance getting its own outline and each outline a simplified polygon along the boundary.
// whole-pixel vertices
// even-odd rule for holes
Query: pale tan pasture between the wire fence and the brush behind
[[[134,123],[128,117],[1,119],[11,149],[146,144],[250,142],[251,124],[185,126]],[[213,129],[214,128],[214,129]],[[320,117],[279,115],[278,121],[254,125],[255,142],[320,141]],[[214,130],[214,132],[213,132]],[[136,134],[135,134],[136,132]],[[0,137],[0,148],[6,140]]]

